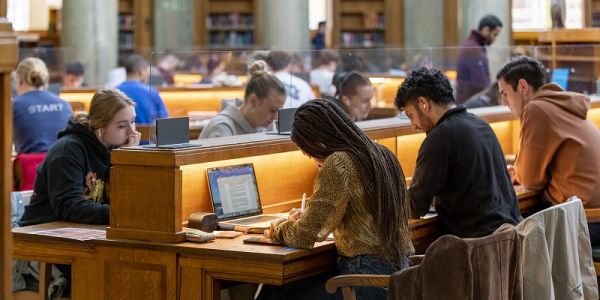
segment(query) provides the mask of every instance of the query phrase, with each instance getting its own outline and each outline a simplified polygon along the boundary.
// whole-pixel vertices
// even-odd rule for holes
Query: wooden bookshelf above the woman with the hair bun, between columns
[[[195,43],[209,49],[251,49],[259,44],[258,0],[202,0]]]

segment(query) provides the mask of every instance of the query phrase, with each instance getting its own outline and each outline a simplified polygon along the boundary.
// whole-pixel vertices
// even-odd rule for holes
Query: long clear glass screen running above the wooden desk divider
[[[495,84],[496,73],[517,55],[540,59],[547,68],[548,78],[567,90],[586,94],[598,92],[600,68],[596,46],[559,46],[554,50],[550,46],[489,47],[483,52],[484,57],[473,56],[476,50],[481,49],[428,47],[286,51],[284,61],[289,65],[281,70],[275,70],[274,62],[269,58],[278,51],[155,51],[149,60],[149,85],[160,94],[169,116],[188,116],[192,128],[198,129],[196,133],[226,107],[239,108],[244,103],[250,78],[249,66],[255,60],[269,61],[269,72],[276,74],[284,84],[286,101],[279,105],[283,108],[298,107],[313,98],[335,98],[334,74],[343,79],[343,75],[350,71],[362,73],[371,83],[372,96],[368,115],[353,117],[357,121],[398,115],[394,107],[397,89],[412,70],[421,67],[443,71],[458,100],[461,84],[469,85],[469,80],[481,81],[481,78],[473,77],[459,82],[461,64],[465,64],[461,59],[467,60],[467,66],[471,67],[480,66],[484,57],[488,63],[489,82],[472,89],[471,94],[460,100],[471,108],[501,105]],[[295,100],[290,100],[292,98]],[[257,130],[274,129],[267,126]],[[192,138],[196,137],[192,135]]]

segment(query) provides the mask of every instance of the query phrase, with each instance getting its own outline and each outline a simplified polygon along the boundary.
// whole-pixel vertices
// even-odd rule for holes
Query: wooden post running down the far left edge
[[[6,16],[6,1],[0,2],[0,16]],[[17,64],[17,40],[12,26],[0,19],[0,298],[11,299],[12,235],[10,233],[10,192],[12,191],[12,88],[10,72]]]

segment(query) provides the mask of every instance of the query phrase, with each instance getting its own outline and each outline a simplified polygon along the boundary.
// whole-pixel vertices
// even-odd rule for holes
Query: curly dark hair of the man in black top
[[[437,104],[454,103],[454,92],[448,78],[437,69],[421,68],[412,71],[398,87],[395,104],[402,110],[406,104],[425,97]]]

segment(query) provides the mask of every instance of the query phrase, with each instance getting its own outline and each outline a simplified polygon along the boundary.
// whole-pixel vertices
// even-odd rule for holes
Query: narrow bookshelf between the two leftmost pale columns
[[[152,47],[152,1],[119,0],[119,59]]]

